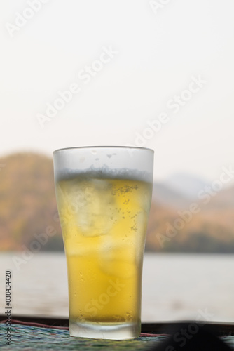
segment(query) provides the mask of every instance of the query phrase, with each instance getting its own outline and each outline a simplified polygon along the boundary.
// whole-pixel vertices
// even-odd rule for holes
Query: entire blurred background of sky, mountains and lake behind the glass
[[[53,150],[125,145],[155,150],[142,319],[233,322],[233,13],[232,0],[0,4],[0,286],[11,269],[13,313],[68,315]]]

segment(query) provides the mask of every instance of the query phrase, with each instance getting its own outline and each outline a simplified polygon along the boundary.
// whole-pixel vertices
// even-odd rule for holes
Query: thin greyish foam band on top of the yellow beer
[[[102,168],[96,168],[93,165],[86,169],[63,168],[55,174],[55,179],[57,181],[74,178],[109,178],[152,182],[152,174],[150,172],[130,168],[109,168],[106,164],[104,164]]]

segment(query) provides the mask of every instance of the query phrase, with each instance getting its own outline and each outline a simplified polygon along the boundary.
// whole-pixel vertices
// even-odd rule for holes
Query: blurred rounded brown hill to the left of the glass
[[[48,227],[57,234],[42,249],[62,250],[60,225],[53,220],[57,205],[52,159],[33,153],[11,154],[1,158],[0,165],[1,250],[28,249]]]

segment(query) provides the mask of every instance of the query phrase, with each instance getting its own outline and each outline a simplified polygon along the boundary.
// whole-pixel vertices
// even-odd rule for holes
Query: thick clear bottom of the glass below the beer
[[[81,338],[128,340],[138,338],[140,332],[140,323],[103,324],[69,321],[70,336]]]

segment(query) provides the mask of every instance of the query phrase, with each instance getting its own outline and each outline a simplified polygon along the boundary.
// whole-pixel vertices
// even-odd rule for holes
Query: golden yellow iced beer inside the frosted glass
[[[57,180],[56,194],[70,321],[139,329],[151,183],[128,173],[77,173]]]

